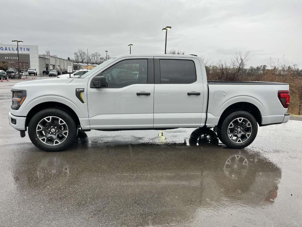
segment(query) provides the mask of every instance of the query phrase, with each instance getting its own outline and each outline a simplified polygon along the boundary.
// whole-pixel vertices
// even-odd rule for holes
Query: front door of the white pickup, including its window
[[[90,88],[89,83],[87,87],[90,128],[153,128],[153,58],[127,58],[100,75],[108,87]]]

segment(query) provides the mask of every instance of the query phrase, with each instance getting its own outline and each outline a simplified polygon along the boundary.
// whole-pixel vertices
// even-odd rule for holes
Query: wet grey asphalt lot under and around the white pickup
[[[44,152],[9,126],[10,89],[0,86],[0,226],[302,225],[302,121],[260,127],[240,150],[182,128],[80,132]]]

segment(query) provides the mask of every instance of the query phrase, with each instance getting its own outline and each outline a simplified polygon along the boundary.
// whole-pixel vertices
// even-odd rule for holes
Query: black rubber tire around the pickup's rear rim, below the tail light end
[[[242,123],[239,123],[239,120],[236,120],[238,118],[239,119],[244,118],[244,119],[248,120],[250,122],[250,127],[247,127],[244,125],[244,124],[246,124],[244,122],[245,120],[243,120]],[[234,128],[236,128],[236,130],[240,130],[240,128],[241,128],[241,131],[238,132],[239,136],[237,136],[235,133],[236,136],[232,137],[235,139],[231,140],[228,135],[228,132],[229,132],[228,127],[234,120],[236,120],[238,122],[238,126],[239,126],[239,127],[235,126],[235,124],[234,124]],[[236,121],[235,121],[235,123],[236,123]],[[247,131],[251,130],[249,137],[247,137],[247,135],[245,135],[246,134],[245,130],[247,130]],[[235,132],[235,130],[233,130],[233,131]],[[223,142],[227,147],[235,148],[235,149],[241,149],[246,146],[249,146],[255,140],[257,132],[258,132],[258,124],[257,124],[255,117],[251,113],[246,112],[246,111],[236,111],[236,112],[230,113],[221,123],[221,127],[217,127],[217,135],[219,134],[219,136],[221,137],[221,142]],[[238,139],[236,139],[236,137]],[[238,140],[237,143],[234,140]],[[240,142],[239,140],[242,140],[242,141]]]

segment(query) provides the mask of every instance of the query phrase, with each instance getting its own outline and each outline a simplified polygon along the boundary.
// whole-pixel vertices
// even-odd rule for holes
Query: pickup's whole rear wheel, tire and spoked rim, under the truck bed
[[[227,147],[235,149],[249,146],[255,140],[258,132],[255,117],[246,111],[230,113],[217,128],[221,141]]]

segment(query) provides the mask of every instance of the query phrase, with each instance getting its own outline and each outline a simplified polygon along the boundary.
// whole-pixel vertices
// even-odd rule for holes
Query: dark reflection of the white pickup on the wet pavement
[[[187,226],[200,211],[264,209],[278,196],[280,168],[218,145],[213,131],[195,130],[179,143],[108,140],[81,132],[68,151],[14,156],[15,212],[50,225]]]

